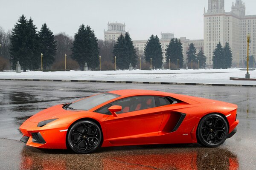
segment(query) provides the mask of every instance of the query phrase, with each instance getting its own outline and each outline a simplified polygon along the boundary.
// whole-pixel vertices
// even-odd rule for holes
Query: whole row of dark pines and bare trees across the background
[[[0,29],[0,42],[2,42],[0,55],[10,59],[13,69],[19,61],[23,71],[39,69],[41,53],[43,54],[44,69],[52,67],[63,69],[65,54],[68,56],[67,63],[72,63],[71,65],[80,70],[84,69],[85,62],[89,68],[99,69],[100,55],[102,56],[102,66],[104,65],[104,68],[109,70],[113,70],[114,63],[119,69],[128,69],[130,63],[134,68],[138,68],[139,64],[137,48],[134,47],[128,32],[125,35],[121,34],[116,42],[103,41],[98,40],[93,29],[84,24],[79,27],[78,32],[72,38],[65,33],[53,35],[46,23],[42,24],[41,29],[37,31],[32,18],[27,20],[22,15],[12,31],[1,34]],[[7,46],[8,48],[6,48]],[[140,57],[143,57],[148,65],[152,65],[152,68],[161,68],[164,61],[163,53],[166,56],[166,64],[171,62],[173,65],[177,65],[178,63],[178,68],[182,68],[184,63],[191,65],[191,61],[196,65],[199,61],[199,68],[206,66],[204,51],[201,49],[197,52],[193,43],[189,44],[186,52],[187,60],[184,61],[180,39],[171,39],[163,52],[159,37],[153,34],[146,42],[143,56]],[[228,43],[224,48],[220,43],[216,46],[212,61],[213,68],[231,67],[232,51]]]

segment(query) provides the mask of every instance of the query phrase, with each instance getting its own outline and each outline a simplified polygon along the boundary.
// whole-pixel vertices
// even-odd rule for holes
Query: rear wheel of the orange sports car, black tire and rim
[[[206,147],[218,147],[228,136],[227,121],[216,113],[204,116],[197,130],[198,143]]]

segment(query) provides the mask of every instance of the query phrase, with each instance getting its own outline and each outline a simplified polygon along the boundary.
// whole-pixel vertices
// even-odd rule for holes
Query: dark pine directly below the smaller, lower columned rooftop
[[[183,67],[183,47],[180,40],[172,38],[165,51],[166,62],[169,62],[170,59],[170,62],[177,65],[177,59],[179,59],[179,68]]]

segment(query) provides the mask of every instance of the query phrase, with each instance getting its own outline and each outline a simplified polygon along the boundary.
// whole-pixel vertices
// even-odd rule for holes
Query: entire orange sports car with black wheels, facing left
[[[99,147],[199,143],[217,147],[236,133],[237,105],[149,90],[109,91],[47,108],[20,130],[26,145],[90,153]]]

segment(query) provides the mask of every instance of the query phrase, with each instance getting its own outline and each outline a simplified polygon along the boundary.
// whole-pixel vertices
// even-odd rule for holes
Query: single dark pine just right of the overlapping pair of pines
[[[154,36],[153,34],[148,39],[145,49],[145,60],[146,62],[151,62],[152,59],[152,67],[160,68],[163,63],[163,52],[159,38]]]

